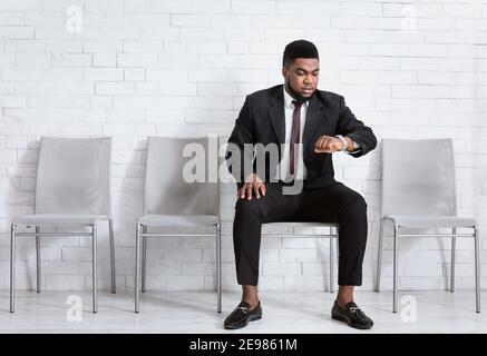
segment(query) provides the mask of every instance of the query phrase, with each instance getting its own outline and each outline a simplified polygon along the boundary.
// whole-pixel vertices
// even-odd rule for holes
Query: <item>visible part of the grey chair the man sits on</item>
[[[262,237],[293,237],[293,238],[329,238],[330,239],[330,293],[334,293],[334,250],[333,250],[333,239],[338,241],[339,237],[339,226],[338,224],[325,224],[325,222],[308,222],[308,221],[285,221],[285,222],[266,222],[262,224],[264,229],[274,228],[292,228],[293,234],[277,234],[277,233],[262,233]],[[316,235],[316,234],[298,234],[296,229],[303,228],[330,228],[329,235]],[[337,244],[337,255],[338,255],[338,244]]]

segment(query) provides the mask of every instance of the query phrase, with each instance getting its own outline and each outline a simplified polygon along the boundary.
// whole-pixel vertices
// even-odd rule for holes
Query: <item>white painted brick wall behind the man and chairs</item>
[[[67,30],[71,6],[82,10],[81,32]],[[8,288],[9,221],[32,212],[41,135],[114,137],[117,281],[119,289],[133,289],[145,138],[227,136],[245,95],[282,81],[282,50],[299,38],[319,47],[321,89],[343,95],[379,139],[455,139],[459,212],[487,231],[486,30],[480,0],[0,1],[0,288]],[[335,155],[337,178],[369,204],[364,289],[374,281],[380,149],[359,160]],[[224,288],[237,289],[235,187],[222,191]],[[108,288],[107,229],[99,230],[100,283]],[[213,289],[214,246],[211,238],[152,240],[148,287]],[[486,286],[486,241],[481,246]],[[90,288],[89,247],[85,238],[45,238],[43,287]],[[400,247],[401,288],[445,287],[448,241]],[[458,249],[457,286],[471,288],[473,244],[460,240]],[[261,289],[329,287],[328,241],[265,239],[261,256]],[[387,289],[390,239],[383,261]],[[19,288],[33,287],[33,241],[21,238]]]

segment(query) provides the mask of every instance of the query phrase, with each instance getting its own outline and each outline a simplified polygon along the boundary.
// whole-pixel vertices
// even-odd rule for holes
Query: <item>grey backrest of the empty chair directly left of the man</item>
[[[216,138],[217,142],[217,138]],[[208,180],[211,157],[208,137],[149,137],[145,178],[145,215],[217,215],[220,216],[218,179]],[[186,155],[184,150],[187,150]],[[196,154],[195,154],[196,152]],[[191,155],[191,156],[188,156]],[[186,156],[186,157],[185,157]],[[215,162],[215,161],[213,161]],[[185,179],[203,175],[196,181]],[[217,165],[216,165],[217,166]],[[186,167],[186,168],[185,168]],[[214,168],[214,167],[213,167]],[[191,174],[189,174],[191,175]],[[216,177],[217,178],[217,177]],[[189,181],[187,181],[189,180]]]

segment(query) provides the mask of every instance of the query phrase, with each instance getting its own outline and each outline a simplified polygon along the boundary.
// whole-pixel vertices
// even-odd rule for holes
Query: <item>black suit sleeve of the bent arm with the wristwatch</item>
[[[349,137],[359,144],[360,149],[350,152],[355,158],[366,155],[377,146],[377,138],[372,129],[362,121],[358,120],[350,108],[345,105],[343,97],[340,97],[340,118],[338,121],[337,134]]]

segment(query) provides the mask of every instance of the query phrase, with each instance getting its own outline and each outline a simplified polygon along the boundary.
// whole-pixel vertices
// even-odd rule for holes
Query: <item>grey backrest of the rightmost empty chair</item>
[[[382,140],[382,216],[457,215],[451,139]]]

